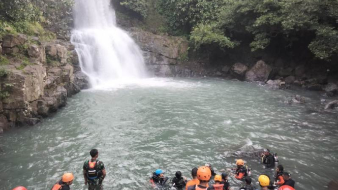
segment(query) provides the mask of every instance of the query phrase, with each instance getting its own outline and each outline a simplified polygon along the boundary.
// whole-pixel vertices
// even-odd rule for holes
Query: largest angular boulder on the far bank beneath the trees
[[[254,65],[253,68],[251,68],[247,74],[245,74],[245,80],[246,81],[263,81],[266,82],[270,73],[272,71],[272,68],[265,64],[263,60],[257,61],[257,63]]]

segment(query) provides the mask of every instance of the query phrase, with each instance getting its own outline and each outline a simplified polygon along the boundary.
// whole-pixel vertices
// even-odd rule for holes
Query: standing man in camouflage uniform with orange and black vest
[[[99,151],[90,150],[91,159],[83,164],[84,184],[88,184],[88,190],[102,190],[102,182],[106,177],[106,170],[103,162],[98,160]]]

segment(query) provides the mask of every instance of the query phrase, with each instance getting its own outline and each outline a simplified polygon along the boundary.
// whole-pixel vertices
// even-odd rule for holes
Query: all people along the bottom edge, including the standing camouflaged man
[[[106,170],[103,162],[98,160],[99,151],[97,149],[90,150],[91,159],[86,160],[83,164],[84,184],[88,185],[88,190],[103,190],[102,182],[106,177]],[[276,154],[271,154],[268,149],[264,149],[261,155],[262,163],[268,167],[274,167],[274,163],[278,162]],[[238,180],[244,180],[245,183],[240,190],[256,190],[257,188],[252,184],[251,169],[244,165],[242,159],[236,161],[237,168],[230,169]],[[175,173],[175,177],[170,181],[172,186],[178,190],[229,190],[230,183],[228,181],[228,173],[223,172],[221,175],[217,174],[209,163],[199,168],[193,168],[191,171],[192,178],[187,180],[182,176],[180,171]],[[214,183],[209,183],[213,177]],[[290,174],[284,172],[284,167],[278,165],[275,169],[274,180],[270,180],[268,175],[260,175],[258,178],[260,189],[278,189],[278,190],[295,190],[295,182],[290,178]],[[51,188],[51,190],[70,190],[74,175],[72,173],[65,173],[60,180],[58,180]],[[164,187],[169,180],[164,176],[161,169],[157,169],[152,173],[150,182],[153,187]],[[23,186],[15,187],[12,190],[27,190]]]

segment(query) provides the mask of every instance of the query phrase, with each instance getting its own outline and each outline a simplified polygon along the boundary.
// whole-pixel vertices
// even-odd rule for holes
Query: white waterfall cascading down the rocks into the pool
[[[142,52],[116,26],[110,0],[76,0],[71,42],[92,87],[130,83],[146,76]]]

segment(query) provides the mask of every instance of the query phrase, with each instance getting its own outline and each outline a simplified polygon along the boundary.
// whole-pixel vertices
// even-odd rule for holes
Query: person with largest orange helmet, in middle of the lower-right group
[[[211,170],[206,166],[199,167],[197,170],[197,179],[199,180],[199,184],[189,186],[188,190],[210,190],[210,187],[208,187],[210,178]]]

